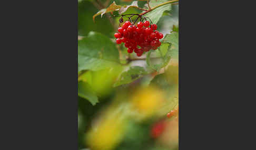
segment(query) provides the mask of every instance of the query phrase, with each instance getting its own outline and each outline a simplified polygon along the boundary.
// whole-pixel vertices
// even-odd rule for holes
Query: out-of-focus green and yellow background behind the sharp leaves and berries
[[[95,23],[92,19],[94,14],[111,3],[113,1],[78,1],[78,40],[88,36],[91,31],[114,39],[119,17],[110,18],[111,14],[107,13],[102,18],[95,17]],[[119,0],[115,3],[130,5],[132,1]],[[143,7],[145,3],[139,1],[138,5]],[[164,36],[173,30],[173,25],[179,25],[178,7],[173,5],[171,12],[164,12],[157,23],[157,30]],[[141,10],[130,8],[125,14],[130,13],[138,14]],[[113,15],[118,14],[114,12]],[[127,55],[125,51],[123,58]],[[156,50],[152,55],[159,54]],[[132,66],[150,70],[145,60],[132,61],[127,67]],[[178,59],[171,59],[160,74],[152,72],[130,84],[114,88],[113,83],[124,70],[111,66],[111,69],[86,71],[78,78],[79,82],[90,83],[91,89],[99,97],[99,103],[95,105],[78,97],[78,149],[179,149],[179,114],[170,118],[166,116],[171,110],[179,108]]]

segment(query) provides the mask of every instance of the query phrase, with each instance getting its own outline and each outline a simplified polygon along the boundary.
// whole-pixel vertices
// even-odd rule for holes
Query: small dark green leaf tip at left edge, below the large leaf
[[[99,102],[95,92],[91,90],[90,85],[86,82],[78,82],[78,96],[87,99],[92,105]]]

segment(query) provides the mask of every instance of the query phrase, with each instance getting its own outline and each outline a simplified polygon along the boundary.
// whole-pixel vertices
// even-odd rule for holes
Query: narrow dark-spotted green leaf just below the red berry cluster
[[[143,67],[134,66],[131,67],[130,70],[125,71],[121,74],[119,80],[117,80],[114,84],[114,87],[117,87],[122,84],[128,84],[132,81],[141,78],[142,76],[146,75],[147,72]]]

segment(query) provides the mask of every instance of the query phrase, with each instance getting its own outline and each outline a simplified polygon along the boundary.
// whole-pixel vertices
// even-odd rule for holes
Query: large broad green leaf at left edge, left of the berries
[[[78,40],[78,72],[113,66],[120,66],[119,52],[110,38],[91,31],[88,37]]]

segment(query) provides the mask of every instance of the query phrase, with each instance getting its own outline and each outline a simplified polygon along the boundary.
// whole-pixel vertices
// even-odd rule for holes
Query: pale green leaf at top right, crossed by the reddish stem
[[[152,8],[156,5],[159,5],[165,2],[168,2],[168,1],[167,0],[157,0],[157,1],[151,0],[149,4],[150,4],[150,7]],[[159,21],[159,19],[162,17],[163,12],[170,11],[171,9],[172,9],[171,4],[166,4],[145,14],[144,17],[149,17],[152,20],[153,24],[156,24]]]

